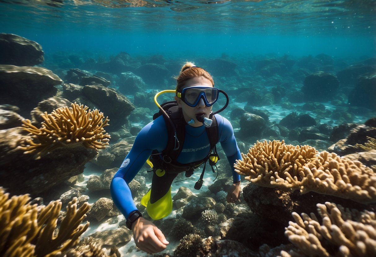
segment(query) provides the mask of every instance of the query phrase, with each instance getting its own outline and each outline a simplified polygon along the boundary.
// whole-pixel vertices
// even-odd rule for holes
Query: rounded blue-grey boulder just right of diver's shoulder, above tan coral
[[[239,136],[247,138],[250,136],[261,136],[266,128],[266,121],[256,114],[245,113],[241,116]]]

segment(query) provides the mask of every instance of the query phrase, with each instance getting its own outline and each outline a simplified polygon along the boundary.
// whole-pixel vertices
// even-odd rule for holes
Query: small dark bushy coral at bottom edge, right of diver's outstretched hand
[[[204,257],[203,238],[197,234],[189,234],[180,240],[174,251],[174,257],[196,256]]]

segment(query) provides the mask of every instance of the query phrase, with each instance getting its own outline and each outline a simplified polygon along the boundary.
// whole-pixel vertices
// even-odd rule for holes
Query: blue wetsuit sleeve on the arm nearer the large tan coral
[[[218,123],[218,137],[222,149],[226,154],[227,160],[231,166],[233,182],[240,181],[240,175],[235,172],[233,167],[236,160],[241,159],[240,150],[235,139],[234,131],[229,120],[221,115],[215,115]]]

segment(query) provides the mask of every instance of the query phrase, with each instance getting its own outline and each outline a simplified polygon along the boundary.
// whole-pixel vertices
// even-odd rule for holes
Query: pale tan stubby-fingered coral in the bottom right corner
[[[293,212],[285,235],[299,250],[281,256],[376,256],[376,215],[374,212],[344,209],[326,202],[317,204],[315,214]]]

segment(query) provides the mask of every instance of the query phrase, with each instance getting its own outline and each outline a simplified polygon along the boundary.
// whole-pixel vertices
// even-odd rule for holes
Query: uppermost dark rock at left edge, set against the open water
[[[0,64],[34,66],[44,61],[42,46],[15,34],[0,33]]]

